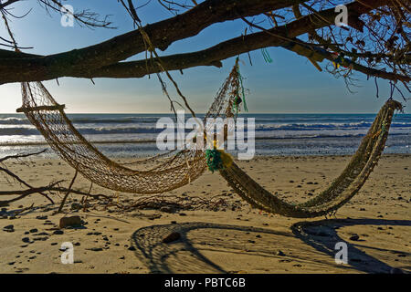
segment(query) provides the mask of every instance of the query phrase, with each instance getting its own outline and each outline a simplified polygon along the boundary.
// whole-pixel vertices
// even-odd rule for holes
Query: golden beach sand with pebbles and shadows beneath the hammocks
[[[259,157],[238,163],[271,192],[301,202],[331,183],[349,159]],[[34,186],[62,179],[68,181],[67,186],[74,174],[58,160],[24,162],[28,166],[12,161],[6,165]],[[0,273],[390,273],[395,268],[410,272],[410,169],[411,155],[383,156],[361,192],[332,219],[261,214],[239,201],[217,173],[206,172],[170,194],[221,195],[221,204],[207,206],[214,210],[121,213],[114,207],[103,211],[105,206],[99,205],[90,212],[67,214],[78,214],[87,224],[56,235],[64,214],[53,215],[58,204],[47,205],[44,197],[32,195],[0,213]],[[75,188],[85,192],[89,187],[83,178],[75,183]],[[16,188],[0,177],[0,190]],[[113,194],[99,188],[93,193]],[[136,196],[120,194],[119,200],[128,197]],[[79,202],[81,197],[70,196],[65,212],[74,199]],[[31,203],[35,203],[32,210],[10,219],[13,212]],[[10,224],[14,232],[4,231]],[[163,244],[172,232],[182,238]],[[61,264],[63,242],[74,245],[72,265]],[[337,242],[348,244],[348,265],[335,263]]]

